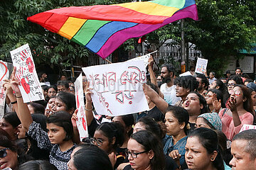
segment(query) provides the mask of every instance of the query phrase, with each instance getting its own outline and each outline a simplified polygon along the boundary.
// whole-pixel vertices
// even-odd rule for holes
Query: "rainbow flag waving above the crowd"
[[[28,21],[73,40],[105,59],[129,38],[181,18],[198,20],[195,0],[155,0],[114,5],[56,8]]]

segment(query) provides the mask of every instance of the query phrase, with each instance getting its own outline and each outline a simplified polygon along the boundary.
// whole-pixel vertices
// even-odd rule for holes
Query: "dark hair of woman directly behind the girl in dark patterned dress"
[[[74,108],[75,111],[75,95],[70,94],[68,92],[65,91],[60,91],[56,98],[58,98],[60,101],[62,101],[63,103],[65,103],[65,108],[66,111],[69,111],[70,109]]]

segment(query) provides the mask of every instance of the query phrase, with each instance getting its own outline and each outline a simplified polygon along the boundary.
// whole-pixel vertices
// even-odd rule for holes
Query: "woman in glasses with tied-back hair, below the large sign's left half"
[[[124,143],[124,128],[119,123],[102,123],[90,140],[109,155],[114,169],[124,162],[124,157],[116,152]]]

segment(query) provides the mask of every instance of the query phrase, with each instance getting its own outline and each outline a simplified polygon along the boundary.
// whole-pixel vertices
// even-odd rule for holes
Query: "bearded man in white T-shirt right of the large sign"
[[[181,98],[176,97],[176,86],[174,85],[175,69],[170,64],[163,64],[161,68],[162,84],[160,91],[164,94],[164,100],[169,105],[174,105]]]

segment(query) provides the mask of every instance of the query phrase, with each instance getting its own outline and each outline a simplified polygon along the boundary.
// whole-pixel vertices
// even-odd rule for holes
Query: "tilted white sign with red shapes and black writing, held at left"
[[[23,101],[44,100],[35,64],[28,44],[18,47],[11,53],[11,60],[16,67],[16,77],[21,82],[18,88],[21,91]]]

